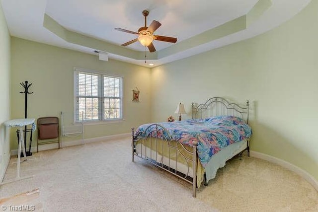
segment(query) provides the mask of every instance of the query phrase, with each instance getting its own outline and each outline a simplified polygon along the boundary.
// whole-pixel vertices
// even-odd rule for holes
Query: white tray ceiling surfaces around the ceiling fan
[[[302,10],[311,0],[271,0],[272,5],[246,29],[214,39],[196,47],[172,51],[158,60],[136,60],[109,53],[109,57],[129,63],[155,66],[209,51],[264,33]],[[162,25],[155,34],[176,37],[177,43],[247,14],[258,0],[1,0],[10,34],[40,43],[95,54],[95,49],[69,43],[43,26],[44,14],[64,28],[105,43],[118,45],[136,35],[114,30],[138,31],[144,25],[142,11],[150,11],[147,25],[153,20]],[[175,44],[154,41],[157,52]],[[145,51],[139,42],[125,48]],[[107,49],[98,49],[107,52]],[[148,53],[153,54],[153,53]]]

